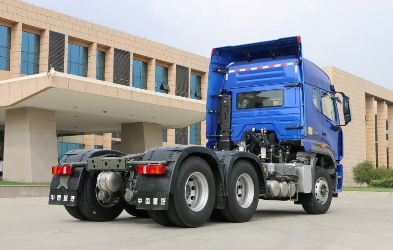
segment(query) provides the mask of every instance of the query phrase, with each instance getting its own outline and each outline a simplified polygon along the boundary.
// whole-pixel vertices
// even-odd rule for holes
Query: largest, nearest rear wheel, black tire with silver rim
[[[209,218],[215,202],[215,183],[209,165],[189,157],[180,166],[169,199],[168,217],[181,227],[199,227]]]

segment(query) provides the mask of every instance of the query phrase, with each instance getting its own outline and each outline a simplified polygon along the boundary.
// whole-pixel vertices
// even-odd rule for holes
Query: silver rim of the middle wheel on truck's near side
[[[236,182],[236,199],[240,207],[246,209],[254,199],[254,183],[248,174],[242,174]]]

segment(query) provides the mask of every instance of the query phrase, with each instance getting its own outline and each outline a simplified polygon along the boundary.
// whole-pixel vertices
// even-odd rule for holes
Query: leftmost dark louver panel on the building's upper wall
[[[66,35],[49,31],[48,71],[64,72],[64,46]]]

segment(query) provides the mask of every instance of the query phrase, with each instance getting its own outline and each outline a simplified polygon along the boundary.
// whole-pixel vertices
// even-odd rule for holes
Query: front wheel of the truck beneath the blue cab
[[[313,196],[312,198],[310,197],[312,199],[312,205],[302,204],[302,206],[308,214],[324,214],[332,202],[332,180],[326,169],[322,167],[315,168],[314,179],[314,192],[308,194]]]

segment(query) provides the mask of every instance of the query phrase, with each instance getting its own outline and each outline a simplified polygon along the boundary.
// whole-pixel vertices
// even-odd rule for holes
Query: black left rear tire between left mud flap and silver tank
[[[123,203],[103,204],[97,199],[98,171],[88,171],[77,205],[80,212],[93,221],[110,221],[118,217],[123,211]]]

